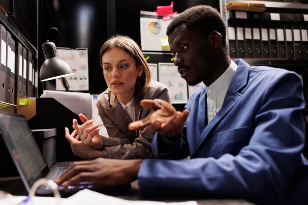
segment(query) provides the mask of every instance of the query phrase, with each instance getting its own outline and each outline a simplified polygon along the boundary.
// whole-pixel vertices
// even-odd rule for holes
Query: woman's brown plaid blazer
[[[142,99],[162,99],[171,103],[170,91],[167,86],[157,81],[151,81]],[[131,131],[128,124],[131,119],[124,112],[117,96],[107,88],[98,95],[98,115],[101,117],[107,129],[109,137],[101,136],[106,158],[113,159],[137,159],[152,157],[153,134],[146,130]],[[151,110],[144,109],[140,102],[136,106],[136,120],[149,115]]]

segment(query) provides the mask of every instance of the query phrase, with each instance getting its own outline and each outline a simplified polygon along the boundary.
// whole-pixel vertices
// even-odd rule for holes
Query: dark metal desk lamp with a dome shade
[[[56,29],[56,28],[51,28],[51,29]],[[51,29],[49,29],[48,32]],[[60,78],[65,90],[69,91],[69,85],[67,83],[67,80],[65,79],[65,76],[74,74],[72,67],[65,60],[59,57],[55,43],[46,40],[46,42],[42,45],[42,49],[45,61],[43,62],[41,69],[39,71],[40,81],[41,82],[49,81]]]

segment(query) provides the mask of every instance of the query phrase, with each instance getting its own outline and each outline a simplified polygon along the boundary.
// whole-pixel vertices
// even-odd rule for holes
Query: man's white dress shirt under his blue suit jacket
[[[233,75],[238,68],[238,65],[231,60],[227,70],[212,83],[207,89],[207,103],[208,103],[208,123],[216,116],[222,107],[223,100],[226,96],[227,90],[230,86]]]

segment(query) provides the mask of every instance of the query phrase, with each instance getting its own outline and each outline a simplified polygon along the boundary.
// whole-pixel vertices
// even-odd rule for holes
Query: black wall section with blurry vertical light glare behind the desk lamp
[[[47,31],[55,27],[61,32],[61,40],[53,35],[48,38],[58,42],[57,46],[88,48],[90,92],[106,89],[98,58],[100,46],[107,38],[106,0],[40,0],[39,5],[38,67],[44,61],[41,45],[46,41]],[[43,89],[55,89],[55,80],[42,84],[40,91]]]

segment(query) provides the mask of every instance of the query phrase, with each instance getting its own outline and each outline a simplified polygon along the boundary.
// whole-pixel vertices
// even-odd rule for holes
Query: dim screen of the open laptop
[[[24,181],[31,184],[48,171],[24,116],[0,113],[0,132],[15,166]],[[26,187],[29,191],[30,187]]]

